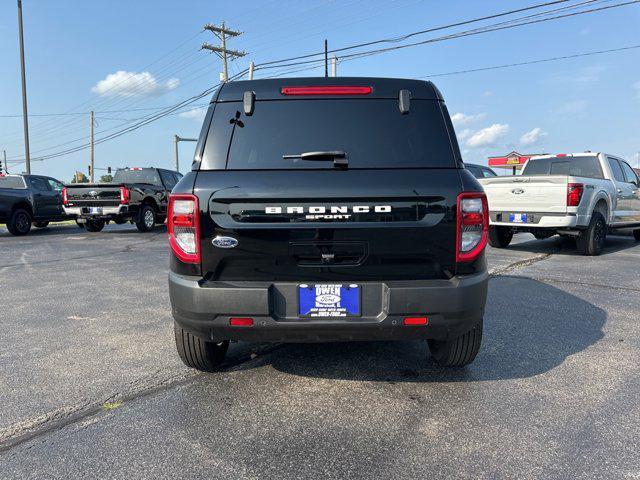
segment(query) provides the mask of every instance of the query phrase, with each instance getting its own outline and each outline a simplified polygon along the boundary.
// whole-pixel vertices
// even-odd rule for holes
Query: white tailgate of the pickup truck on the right
[[[562,175],[480,180],[491,212],[566,213],[567,182]]]

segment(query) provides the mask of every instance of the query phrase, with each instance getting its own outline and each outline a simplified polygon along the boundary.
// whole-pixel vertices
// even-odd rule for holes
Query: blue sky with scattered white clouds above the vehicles
[[[565,6],[579,0],[567,2]],[[595,7],[622,0],[598,0]],[[228,47],[261,63],[322,49],[393,37],[411,31],[532,5],[531,1],[396,0],[222,2],[204,0],[87,2],[23,0],[32,157],[82,144],[88,112],[96,112],[96,138],[117,131],[157,107],[169,106],[217,83],[220,60],[200,51],[215,43],[205,23],[225,20],[244,32]],[[558,8],[562,5],[556,5]],[[528,12],[532,13],[532,12]],[[526,13],[525,13],[526,14]],[[520,15],[525,15],[520,14]],[[463,28],[432,33],[432,38]],[[529,60],[640,44],[640,4],[467,38],[427,44],[340,63],[338,75],[421,78]],[[0,4],[0,116],[21,112],[15,1]],[[640,49],[432,78],[455,115],[468,162],[511,150],[604,150],[638,163]],[[282,68],[261,75],[282,73]],[[126,73],[118,73],[126,72]],[[323,69],[292,75],[322,75]],[[114,86],[115,85],[115,86]],[[206,101],[205,101],[206,100]],[[97,167],[173,165],[174,134],[197,136],[202,112],[168,116],[96,147]],[[125,110],[113,112],[113,110]],[[186,111],[186,113],[185,113]],[[51,113],[79,115],[46,116]],[[104,132],[104,133],[103,133]],[[0,117],[0,150],[24,155],[20,117]],[[59,146],[60,145],[60,146]],[[193,144],[181,144],[182,166]],[[88,150],[33,162],[36,173],[68,181],[86,172]],[[13,167],[18,171],[23,165]],[[184,168],[183,168],[184,171]],[[104,173],[104,172],[99,172]]]

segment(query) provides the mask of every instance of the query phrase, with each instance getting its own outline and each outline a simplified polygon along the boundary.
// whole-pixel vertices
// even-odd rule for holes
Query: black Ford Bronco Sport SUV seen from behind
[[[480,348],[486,197],[430,82],[225,84],[168,230],[190,367],[230,340],[428,340],[447,366]]]

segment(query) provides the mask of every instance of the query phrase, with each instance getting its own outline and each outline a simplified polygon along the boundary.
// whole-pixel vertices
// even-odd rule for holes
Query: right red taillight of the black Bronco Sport
[[[458,195],[456,220],[456,262],[472,262],[487,246],[489,207],[482,192]]]

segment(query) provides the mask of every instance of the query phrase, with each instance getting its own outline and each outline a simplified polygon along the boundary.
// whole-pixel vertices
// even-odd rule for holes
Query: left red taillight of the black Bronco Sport
[[[176,257],[185,263],[200,263],[198,197],[182,193],[169,196],[167,231]]]

